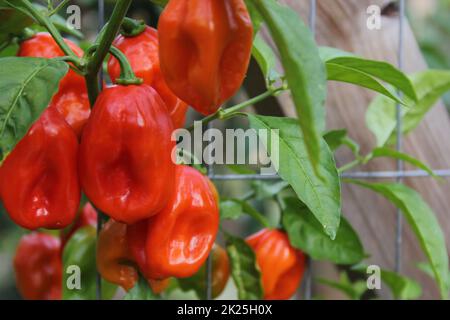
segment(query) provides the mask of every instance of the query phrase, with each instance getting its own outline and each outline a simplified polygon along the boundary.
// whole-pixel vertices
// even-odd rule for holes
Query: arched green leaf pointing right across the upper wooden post
[[[417,101],[416,91],[410,79],[393,65],[384,61],[360,58],[329,47],[321,47],[319,51],[326,62],[328,80],[353,83],[380,92],[402,103],[390,88],[377,80],[379,79],[400,90],[411,100]]]

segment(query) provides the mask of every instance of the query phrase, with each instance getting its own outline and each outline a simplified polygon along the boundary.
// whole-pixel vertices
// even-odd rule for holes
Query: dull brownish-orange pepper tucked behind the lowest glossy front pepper
[[[105,280],[115,283],[126,291],[138,281],[138,267],[130,252],[127,226],[110,219],[100,231],[97,244],[97,269]],[[170,279],[147,279],[154,293],[164,291]]]

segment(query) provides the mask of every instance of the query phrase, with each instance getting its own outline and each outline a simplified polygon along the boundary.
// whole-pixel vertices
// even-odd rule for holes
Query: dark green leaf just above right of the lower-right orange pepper
[[[366,255],[358,235],[342,217],[336,239],[331,240],[308,208],[298,199],[284,200],[282,223],[292,246],[306,252],[314,260],[336,264],[355,264]]]

